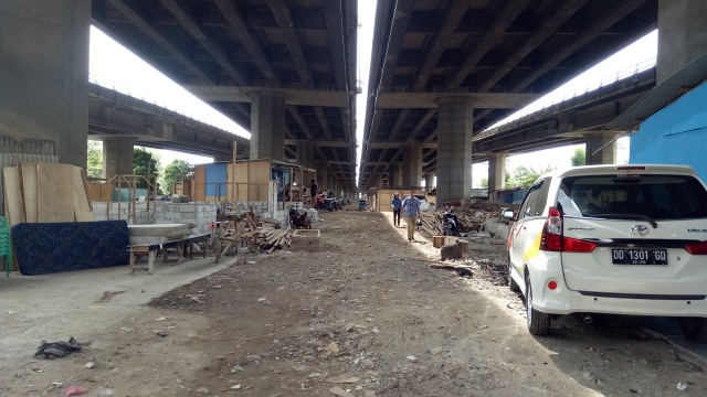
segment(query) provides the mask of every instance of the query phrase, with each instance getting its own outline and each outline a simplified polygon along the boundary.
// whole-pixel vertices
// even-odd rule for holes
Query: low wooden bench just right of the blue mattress
[[[189,256],[189,258],[193,258],[193,246],[201,244],[201,251],[203,254],[203,257],[205,258],[207,246],[210,237],[211,237],[211,234],[204,233],[204,234],[193,234],[182,238],[178,238],[169,242],[162,242],[162,243],[154,243],[154,244],[146,243],[146,244],[130,245],[128,247],[130,251],[130,273],[134,275],[135,270],[147,270],[148,273],[151,275],[155,268],[155,257],[157,256],[158,251],[160,253],[162,264],[166,264],[169,261],[179,262],[181,258],[186,258],[187,256]],[[170,248],[177,249],[177,259],[168,258]],[[135,262],[137,261],[137,258],[140,256],[148,257],[147,268],[136,267]]]

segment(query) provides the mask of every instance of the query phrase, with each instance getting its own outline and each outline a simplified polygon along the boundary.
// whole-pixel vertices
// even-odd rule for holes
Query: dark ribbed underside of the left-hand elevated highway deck
[[[330,161],[339,185],[355,187],[356,0],[94,0],[92,15],[254,142],[278,140],[264,157]],[[297,142],[312,142],[307,158]]]

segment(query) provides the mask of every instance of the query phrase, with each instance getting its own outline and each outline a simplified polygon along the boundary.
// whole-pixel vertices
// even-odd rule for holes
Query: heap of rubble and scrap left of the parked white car
[[[488,202],[488,201],[474,201],[471,203],[454,203],[454,213],[458,218],[458,228],[461,233],[482,232],[484,223],[490,218],[500,217],[500,212],[505,208],[517,208],[517,205]],[[443,234],[443,223],[445,208],[439,208],[435,211],[425,211],[421,213],[420,219],[422,221],[421,229],[428,233],[430,236],[441,236]]]

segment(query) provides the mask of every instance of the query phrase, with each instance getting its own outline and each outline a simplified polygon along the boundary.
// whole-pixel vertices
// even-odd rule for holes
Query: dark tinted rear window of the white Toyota
[[[566,215],[646,215],[654,219],[707,217],[707,191],[689,175],[564,178],[558,203]]]

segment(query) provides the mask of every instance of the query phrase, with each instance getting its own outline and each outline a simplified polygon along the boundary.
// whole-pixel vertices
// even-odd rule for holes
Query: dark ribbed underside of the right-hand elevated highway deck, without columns
[[[421,147],[423,172],[437,172],[440,106],[450,98],[473,108],[474,162],[582,142],[558,133],[559,119],[477,135],[656,29],[657,13],[657,0],[379,1],[360,187],[390,183],[408,163],[405,147]],[[645,92],[606,99],[612,117]]]

